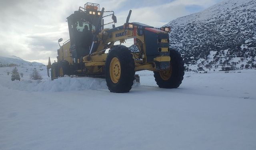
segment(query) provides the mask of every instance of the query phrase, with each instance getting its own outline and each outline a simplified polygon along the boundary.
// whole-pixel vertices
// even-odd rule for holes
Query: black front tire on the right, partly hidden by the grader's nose
[[[184,76],[184,62],[180,53],[170,49],[170,70],[154,71],[156,84],[159,88],[178,88]]]

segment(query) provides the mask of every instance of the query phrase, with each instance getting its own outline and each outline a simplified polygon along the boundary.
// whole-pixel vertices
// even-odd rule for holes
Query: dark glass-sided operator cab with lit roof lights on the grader
[[[72,57],[75,58],[74,63],[77,63],[82,56],[89,54],[96,24],[98,21],[101,24],[100,13],[99,4],[86,3],[84,8],[79,7],[78,11],[68,16],[70,51]]]

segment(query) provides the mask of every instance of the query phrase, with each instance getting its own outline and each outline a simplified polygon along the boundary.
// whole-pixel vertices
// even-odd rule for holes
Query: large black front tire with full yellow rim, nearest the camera
[[[132,88],[135,64],[130,50],[123,45],[114,46],[105,64],[105,77],[108,90],[114,93],[126,93]]]

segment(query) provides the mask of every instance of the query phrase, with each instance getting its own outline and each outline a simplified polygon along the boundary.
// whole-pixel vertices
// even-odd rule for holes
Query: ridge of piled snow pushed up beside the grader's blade
[[[71,78],[69,76],[58,78],[55,80],[22,80],[9,81],[1,83],[2,86],[30,91],[30,92],[61,92],[76,90],[108,90],[105,79],[102,78]],[[134,86],[140,86],[140,83],[134,81]]]

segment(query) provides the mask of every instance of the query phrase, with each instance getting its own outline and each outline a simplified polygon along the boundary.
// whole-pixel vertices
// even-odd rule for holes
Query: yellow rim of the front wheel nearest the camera
[[[121,76],[121,65],[118,58],[112,58],[109,67],[110,79],[113,83],[117,83]]]

